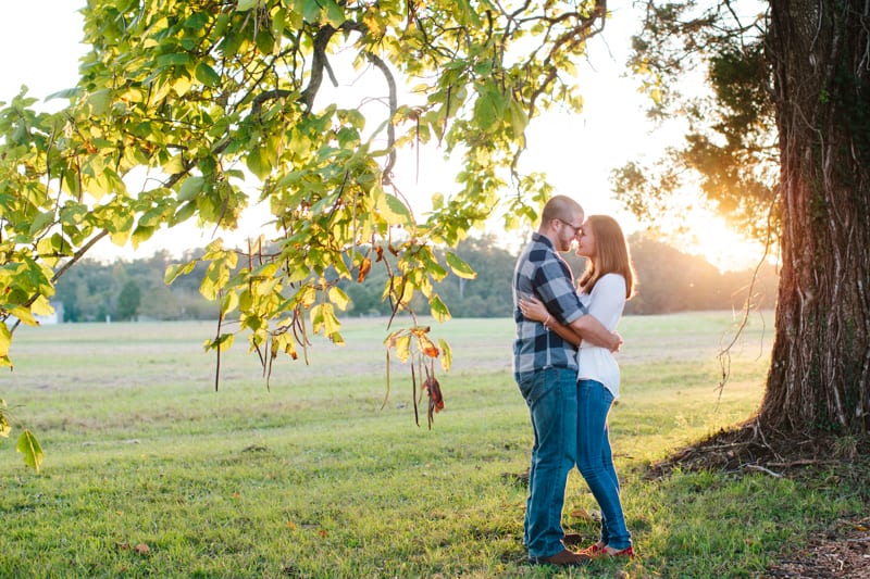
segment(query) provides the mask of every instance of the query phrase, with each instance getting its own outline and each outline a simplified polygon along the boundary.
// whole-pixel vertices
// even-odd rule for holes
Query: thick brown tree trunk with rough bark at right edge
[[[772,0],[782,274],[762,427],[870,425],[870,5]]]

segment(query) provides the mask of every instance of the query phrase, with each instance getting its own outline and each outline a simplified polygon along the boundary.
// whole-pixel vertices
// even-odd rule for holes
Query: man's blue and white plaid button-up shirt
[[[523,249],[513,272],[513,373],[522,375],[547,367],[577,368],[576,349],[539,322],[523,317],[520,298],[535,295],[552,317],[571,324],[588,313],[574,288],[574,276],[552,242],[540,234]]]

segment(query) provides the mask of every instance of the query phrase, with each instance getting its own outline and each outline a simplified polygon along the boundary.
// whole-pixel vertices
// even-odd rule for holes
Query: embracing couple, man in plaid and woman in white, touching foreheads
[[[586,269],[574,287],[559,255],[577,242]],[[607,415],[619,395],[614,332],[634,292],[627,243],[616,221],[592,215],[571,198],[544,206],[540,226],[513,276],[513,370],[534,430],[523,542],[533,564],[582,565],[595,557],[634,555],[620,501]],[[574,552],[562,506],[576,464],[601,509],[600,540]]]

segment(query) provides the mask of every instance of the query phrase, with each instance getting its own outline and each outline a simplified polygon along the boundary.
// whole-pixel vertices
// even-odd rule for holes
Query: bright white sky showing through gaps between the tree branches
[[[84,1],[4,3],[0,20],[0,53],[4,55],[0,59],[0,101],[9,102],[22,85],[28,87],[29,96],[40,99],[74,86],[78,78],[78,59],[87,51],[80,43],[82,16],[77,13]],[[613,199],[610,172],[630,160],[658,158],[662,137],[650,133],[652,127],[644,113],[647,103],[637,91],[638,80],[625,75],[630,36],[639,22],[637,13],[631,0],[609,2],[609,9],[611,18],[604,36],[589,42],[587,62],[580,66],[577,83],[584,97],[583,113],[547,113],[535,119],[529,127],[522,167],[546,173],[556,192],[576,199],[587,215],[613,215],[623,229],[631,232],[645,228],[646,224],[638,223]],[[63,104],[64,100],[53,100],[41,102],[39,106],[57,110]],[[427,196],[433,191],[433,182],[445,174],[445,165],[438,156],[421,158],[418,175],[413,155],[409,154],[410,161],[405,162],[408,168],[398,176],[402,192],[421,207],[415,207],[418,214],[428,206]],[[449,193],[450,184],[444,184],[440,190]],[[722,269],[735,265],[742,268],[757,259],[748,253],[753,248],[739,242],[718,217],[705,214],[696,219],[704,224],[696,235],[705,236],[698,239],[696,252],[705,253],[714,265]],[[253,235],[258,225],[258,216],[252,212],[250,218],[243,221],[241,231],[224,237],[240,241]],[[497,223],[490,228],[499,230]],[[135,253],[104,239],[95,248],[95,256],[132,259],[147,256],[156,249],[172,252],[179,247],[179,237],[186,247],[201,247],[211,236],[211,229],[199,230],[189,225],[182,230],[161,231]],[[507,244],[517,246],[522,237],[523,232],[518,232]]]

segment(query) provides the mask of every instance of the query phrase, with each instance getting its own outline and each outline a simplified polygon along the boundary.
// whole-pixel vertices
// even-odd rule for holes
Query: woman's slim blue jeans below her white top
[[[577,468],[601,507],[601,541],[613,549],[632,544],[619,499],[607,414],[613,394],[596,380],[577,382]]]

